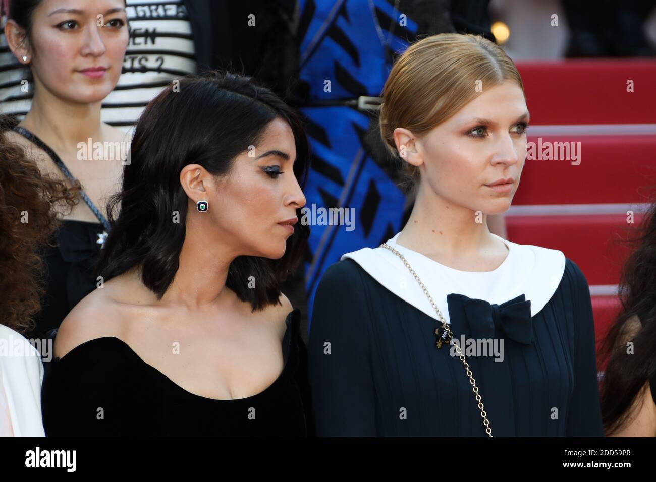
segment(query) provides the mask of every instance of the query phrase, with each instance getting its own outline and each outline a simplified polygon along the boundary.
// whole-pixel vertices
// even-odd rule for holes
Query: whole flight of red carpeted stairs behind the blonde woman
[[[656,62],[518,62],[518,69],[531,113],[529,142],[536,152],[540,142],[580,142],[567,146],[579,148],[580,163],[572,152],[568,159],[526,160],[506,217],[508,237],[560,249],[579,265],[599,346],[619,310],[612,293],[628,250],[617,241],[642,221],[641,206],[656,188]]]

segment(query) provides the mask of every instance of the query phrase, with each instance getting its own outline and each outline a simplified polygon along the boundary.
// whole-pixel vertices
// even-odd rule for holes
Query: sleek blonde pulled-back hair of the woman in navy
[[[424,134],[474,100],[481,89],[522,77],[506,52],[478,35],[440,33],[410,45],[394,62],[385,82],[379,129],[386,149],[401,167],[401,186],[419,185],[419,168],[404,162],[394,143],[394,129]],[[477,83],[477,81],[480,81]]]

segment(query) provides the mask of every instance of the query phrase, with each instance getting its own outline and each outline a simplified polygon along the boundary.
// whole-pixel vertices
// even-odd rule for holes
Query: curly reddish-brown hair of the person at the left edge
[[[0,323],[25,333],[34,326],[45,290],[41,249],[57,227],[55,206],[72,209],[79,183],[44,176],[6,131],[16,119],[0,118]]]

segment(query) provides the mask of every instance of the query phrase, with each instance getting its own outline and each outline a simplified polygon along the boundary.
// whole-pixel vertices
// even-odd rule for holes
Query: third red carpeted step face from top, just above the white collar
[[[617,285],[621,267],[630,252],[618,239],[628,239],[642,222],[634,224],[619,214],[589,216],[506,216],[508,239],[522,245],[559,249],[575,262],[588,285]]]

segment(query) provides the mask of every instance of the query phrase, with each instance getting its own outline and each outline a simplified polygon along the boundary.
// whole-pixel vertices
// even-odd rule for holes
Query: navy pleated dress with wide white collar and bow
[[[493,436],[603,436],[590,292],[573,261],[502,240],[496,270],[461,271],[397,238],[387,243],[449,323]],[[440,325],[396,254],[344,254],[319,283],[310,327],[317,434],[487,436],[453,345],[436,348]]]

